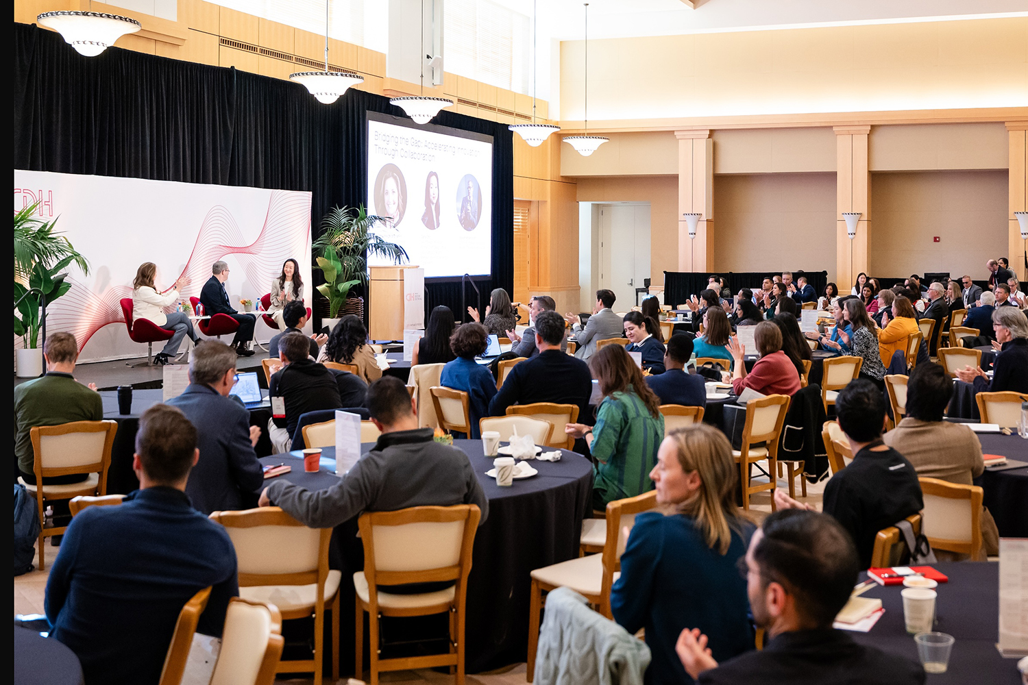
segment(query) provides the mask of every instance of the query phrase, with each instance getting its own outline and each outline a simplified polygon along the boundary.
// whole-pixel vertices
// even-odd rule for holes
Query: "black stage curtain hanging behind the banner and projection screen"
[[[14,25],[13,62],[14,168],[308,190],[316,234],[332,206],[366,201],[366,113],[405,116],[361,90],[322,105],[301,85],[234,68],[116,47],[83,58],[35,25]],[[512,134],[445,110],[434,122],[492,137],[492,275],[477,282],[483,298],[492,288],[511,292]],[[145,230],[145,217],[140,223]],[[427,310],[445,304],[461,316],[458,283],[426,291]]]

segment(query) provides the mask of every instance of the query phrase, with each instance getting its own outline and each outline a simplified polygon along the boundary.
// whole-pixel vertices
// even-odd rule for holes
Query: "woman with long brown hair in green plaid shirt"
[[[596,424],[568,423],[564,431],[584,437],[595,460],[592,503],[608,502],[653,490],[650,471],[664,439],[660,398],[642,378],[642,370],[621,345],[608,345],[589,357],[589,369],[602,398]]]

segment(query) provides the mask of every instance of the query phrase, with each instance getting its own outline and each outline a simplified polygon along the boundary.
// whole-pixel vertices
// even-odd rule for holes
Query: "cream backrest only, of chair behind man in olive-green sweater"
[[[118,430],[116,421],[72,421],[29,430],[35,453],[36,482],[69,473],[100,473],[99,492],[107,493],[107,467]],[[42,486],[45,488],[45,486]]]

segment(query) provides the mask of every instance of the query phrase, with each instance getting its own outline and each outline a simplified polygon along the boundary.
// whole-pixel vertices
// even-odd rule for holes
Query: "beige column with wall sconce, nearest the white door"
[[[676,130],[678,139],[678,270],[709,271],[713,264],[713,141],[710,130]],[[683,214],[698,212],[696,237]]]

